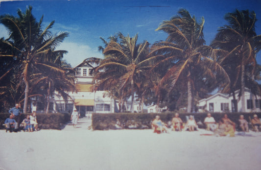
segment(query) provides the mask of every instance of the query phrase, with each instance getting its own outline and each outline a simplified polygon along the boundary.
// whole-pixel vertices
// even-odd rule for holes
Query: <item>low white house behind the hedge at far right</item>
[[[234,105],[232,94],[217,93],[211,97],[199,100],[197,108],[199,112],[235,112],[242,111],[241,97],[238,98],[239,90],[235,92],[237,105]],[[256,110],[253,110],[253,94],[249,89],[245,89],[245,112],[260,112],[261,111],[261,97],[255,97]]]

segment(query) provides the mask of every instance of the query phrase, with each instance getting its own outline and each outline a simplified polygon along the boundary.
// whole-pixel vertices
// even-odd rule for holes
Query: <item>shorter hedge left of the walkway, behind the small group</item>
[[[0,128],[3,129],[4,127],[2,124],[4,123],[5,119],[9,117],[9,114],[3,113],[0,114]],[[21,121],[24,120],[26,117],[25,114],[22,114]],[[40,129],[62,129],[63,125],[70,121],[70,114],[61,114],[61,113],[50,113],[50,114],[36,114],[38,127]]]

